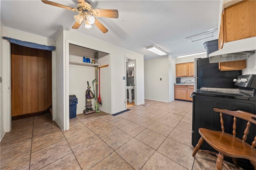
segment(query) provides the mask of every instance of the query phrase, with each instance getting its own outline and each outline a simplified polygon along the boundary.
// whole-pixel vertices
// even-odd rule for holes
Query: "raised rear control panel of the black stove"
[[[238,76],[238,78],[234,79],[233,82],[235,82],[236,86],[240,87],[249,87],[249,88],[255,88],[255,83],[253,79],[256,79],[256,74],[247,74]]]

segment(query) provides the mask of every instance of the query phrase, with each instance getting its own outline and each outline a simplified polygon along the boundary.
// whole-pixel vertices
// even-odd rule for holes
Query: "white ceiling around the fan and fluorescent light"
[[[52,0],[76,8],[76,0]],[[214,37],[190,42],[186,37],[218,27],[219,0],[102,0],[89,1],[94,9],[117,9],[119,18],[98,18],[108,29],[72,29],[70,10],[44,4],[41,0],[1,0],[1,24],[21,31],[56,39],[62,26],[143,54],[160,57],[145,47],[156,45],[172,57],[205,51],[203,43]],[[86,41],[86,40],[84,40]]]

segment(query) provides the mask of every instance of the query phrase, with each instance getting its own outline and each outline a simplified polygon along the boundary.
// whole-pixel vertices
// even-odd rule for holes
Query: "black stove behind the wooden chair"
[[[231,80],[232,82],[232,80]],[[214,107],[219,109],[242,110],[256,114],[256,74],[238,76],[233,80],[234,88],[200,87],[193,92],[193,115],[192,115],[192,145],[196,146],[200,139],[198,129],[200,127],[221,131],[220,116],[213,111]],[[226,87],[225,84],[218,84],[217,87]],[[231,86],[230,86],[231,87]],[[225,132],[232,135],[233,117],[223,115]],[[236,137],[242,139],[247,121],[237,118]],[[249,128],[250,133],[246,143],[250,144],[256,136],[256,125]],[[201,145],[203,150],[215,151],[207,143]],[[232,159],[225,158],[232,163]],[[249,160],[238,159],[238,165],[254,170]]]

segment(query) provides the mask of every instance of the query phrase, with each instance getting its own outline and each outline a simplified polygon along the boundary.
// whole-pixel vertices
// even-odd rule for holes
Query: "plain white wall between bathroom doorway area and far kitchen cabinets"
[[[144,61],[145,99],[169,102],[169,67],[168,55]]]

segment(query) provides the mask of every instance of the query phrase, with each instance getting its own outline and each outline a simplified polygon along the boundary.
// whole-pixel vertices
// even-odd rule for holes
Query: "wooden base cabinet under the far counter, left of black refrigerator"
[[[194,92],[194,85],[174,85],[174,99],[193,101],[190,94]]]

